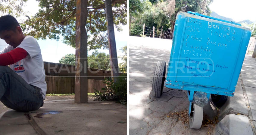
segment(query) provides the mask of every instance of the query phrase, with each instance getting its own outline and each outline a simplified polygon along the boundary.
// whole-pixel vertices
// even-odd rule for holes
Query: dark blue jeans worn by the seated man
[[[0,66],[0,101],[8,108],[28,112],[43,106],[40,88],[28,84],[7,66]]]

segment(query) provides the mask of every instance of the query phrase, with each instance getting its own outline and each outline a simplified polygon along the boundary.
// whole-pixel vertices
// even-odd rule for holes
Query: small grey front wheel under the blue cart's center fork
[[[195,103],[192,104],[191,113],[189,116],[190,128],[199,129],[203,122],[203,107],[199,107]]]

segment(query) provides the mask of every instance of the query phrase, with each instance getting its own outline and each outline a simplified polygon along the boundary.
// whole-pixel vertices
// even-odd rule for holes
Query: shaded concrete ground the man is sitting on
[[[1,135],[125,135],[126,126],[126,106],[110,101],[45,101],[43,107],[29,113],[0,112]]]

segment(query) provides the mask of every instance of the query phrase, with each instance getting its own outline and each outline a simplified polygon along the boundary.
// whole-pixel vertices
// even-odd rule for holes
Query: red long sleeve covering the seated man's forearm
[[[14,64],[27,57],[27,51],[22,48],[15,48],[10,52],[0,54],[0,66]]]

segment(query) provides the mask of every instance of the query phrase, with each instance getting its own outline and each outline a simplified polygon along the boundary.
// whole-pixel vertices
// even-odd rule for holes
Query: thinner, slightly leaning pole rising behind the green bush
[[[117,62],[117,47],[116,39],[114,33],[114,22],[111,0],[105,0],[106,6],[106,18],[108,27],[108,46],[109,46],[109,56],[110,56],[110,66],[111,66],[111,76],[116,82],[116,77],[118,76],[118,62]]]

